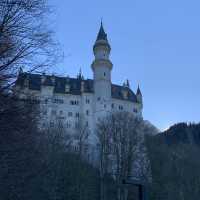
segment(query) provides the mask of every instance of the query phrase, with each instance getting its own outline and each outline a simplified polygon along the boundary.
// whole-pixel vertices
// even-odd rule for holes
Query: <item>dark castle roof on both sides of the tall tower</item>
[[[41,90],[42,86],[53,87],[54,93],[66,93],[65,87],[69,86],[70,90],[68,93],[74,95],[81,95],[81,82],[84,82],[84,92],[93,93],[94,83],[92,79],[80,79],[80,78],[69,78],[69,77],[58,77],[41,74],[31,73],[20,73],[16,81],[16,85],[24,87],[25,80],[28,80],[28,87],[30,90]],[[42,82],[42,79],[44,81]],[[127,93],[127,97],[124,97],[123,92]],[[112,84],[112,98],[137,102],[135,93],[128,87]]]

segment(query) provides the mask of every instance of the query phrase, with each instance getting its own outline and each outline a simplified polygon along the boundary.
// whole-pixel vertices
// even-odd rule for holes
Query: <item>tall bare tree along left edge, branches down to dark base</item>
[[[37,127],[37,105],[11,93],[21,67],[44,70],[57,55],[53,32],[45,23],[45,0],[0,2],[0,193],[2,199],[40,199],[49,169],[47,138]],[[38,112],[35,112],[38,111]],[[44,199],[44,198],[42,198]]]

